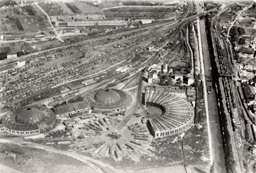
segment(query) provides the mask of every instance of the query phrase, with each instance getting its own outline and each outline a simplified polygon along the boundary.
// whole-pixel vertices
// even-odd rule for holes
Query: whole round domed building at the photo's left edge
[[[1,130],[15,135],[33,135],[44,132],[56,120],[56,114],[46,107],[17,109],[2,118]]]

